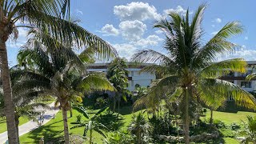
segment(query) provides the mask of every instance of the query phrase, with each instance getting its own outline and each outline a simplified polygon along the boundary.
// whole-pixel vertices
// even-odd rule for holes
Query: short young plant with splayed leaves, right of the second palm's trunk
[[[98,134],[101,134],[104,138],[106,138],[106,135],[104,134],[104,132],[102,130],[108,130],[108,128],[103,125],[100,122],[97,122],[96,118],[99,117],[100,114],[102,114],[103,112],[106,111],[106,109],[108,109],[108,107],[104,107],[102,108],[102,110],[98,110],[98,112],[96,114],[94,114],[92,117],[90,117],[90,114],[88,114],[86,112],[86,109],[81,107],[74,107],[74,110],[78,110],[80,113],[82,113],[87,119],[88,121],[79,123],[77,126],[73,126],[70,129],[75,129],[78,127],[85,127],[85,130],[83,132],[83,136],[86,136],[88,130],[89,130],[89,143],[92,144],[92,134],[93,134],[93,130],[98,132]]]

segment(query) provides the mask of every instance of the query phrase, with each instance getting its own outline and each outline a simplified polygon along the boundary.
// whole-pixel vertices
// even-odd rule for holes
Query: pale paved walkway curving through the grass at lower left
[[[58,109],[54,108],[54,102],[51,103],[49,106],[51,107],[51,110],[45,111],[45,114],[44,114],[45,120],[42,123],[42,125],[49,122],[50,119],[53,118],[53,115],[58,113]],[[38,109],[38,110],[42,110],[42,109]],[[19,136],[22,136],[23,134],[26,134],[36,128],[38,128],[38,122],[33,122],[31,120],[30,122],[24,123],[22,126],[18,126],[18,134]],[[7,131],[0,134],[0,143],[6,142],[7,139],[8,139]]]

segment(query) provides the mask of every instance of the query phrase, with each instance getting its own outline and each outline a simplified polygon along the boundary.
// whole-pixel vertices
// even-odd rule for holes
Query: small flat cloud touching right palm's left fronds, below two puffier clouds
[[[135,46],[156,46],[158,45],[158,42],[163,41],[162,38],[159,38],[157,35],[150,35],[147,38],[142,38],[138,42],[134,42]]]

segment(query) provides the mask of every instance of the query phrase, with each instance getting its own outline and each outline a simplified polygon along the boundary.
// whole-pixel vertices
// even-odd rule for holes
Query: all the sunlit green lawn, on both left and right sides
[[[68,119],[69,126],[74,126],[70,124],[70,122],[76,121],[76,116],[79,114],[78,111],[73,110],[73,117]],[[97,110],[89,110],[90,113],[95,113]],[[139,111],[138,111],[139,112]],[[136,112],[135,114],[138,114]],[[119,120],[119,122],[122,123],[122,126],[120,126],[120,129],[126,128],[126,126],[129,125],[130,121],[132,120],[132,109],[131,106],[122,107],[120,110],[120,113],[122,115],[122,120]],[[68,114],[69,115],[69,114]],[[214,111],[214,119],[222,120],[223,122],[226,122],[226,124],[232,123],[232,122],[242,122],[246,121],[247,115],[256,115],[252,112],[244,112],[244,111],[238,111],[238,113],[226,113],[226,112],[218,112]],[[207,111],[206,118],[210,118],[210,111]],[[83,118],[85,119],[85,118]],[[83,134],[83,128],[73,129],[70,130],[70,134]],[[108,132],[106,132],[108,134]],[[102,143],[102,135],[94,132],[94,142],[95,143]],[[32,132],[28,134],[24,134],[20,139],[22,143],[38,143],[38,140],[42,137],[45,137],[45,142],[54,142],[56,140],[58,142],[60,137],[63,137],[63,122],[62,122],[62,113],[61,111],[58,112],[56,115],[56,118],[51,120],[50,122],[46,123],[46,125],[38,128],[37,130],[33,130]],[[234,138],[224,138],[225,143],[239,143]]]

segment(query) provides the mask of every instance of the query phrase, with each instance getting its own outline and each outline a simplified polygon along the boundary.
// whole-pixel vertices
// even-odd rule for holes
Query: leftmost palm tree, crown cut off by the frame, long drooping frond
[[[21,24],[20,24],[21,23]],[[16,26],[18,25],[18,26]],[[94,46],[105,55],[111,46],[87,30],[70,22],[70,0],[0,0],[0,58],[8,139],[17,143],[6,42],[18,38],[18,27],[38,27],[62,42],[79,47]]]

